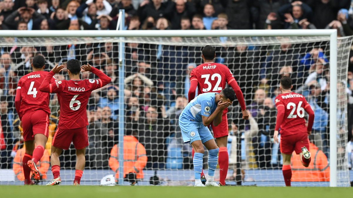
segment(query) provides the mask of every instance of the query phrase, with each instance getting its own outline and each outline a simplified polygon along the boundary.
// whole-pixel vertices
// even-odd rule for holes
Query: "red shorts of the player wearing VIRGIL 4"
[[[23,140],[34,140],[34,135],[49,136],[49,115],[46,111],[38,109],[26,112],[22,116]]]

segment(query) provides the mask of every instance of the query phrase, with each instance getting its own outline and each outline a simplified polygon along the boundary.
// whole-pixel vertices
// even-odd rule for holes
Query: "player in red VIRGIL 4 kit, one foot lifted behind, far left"
[[[34,184],[31,181],[30,172],[35,180],[40,179],[40,172],[36,163],[42,158],[44,147],[49,135],[49,93],[39,91],[45,76],[45,59],[43,56],[33,58],[33,72],[23,76],[18,81],[15,98],[16,111],[23,127],[23,140],[26,147],[22,165],[24,172],[24,183]],[[50,79],[52,83],[56,80]]]

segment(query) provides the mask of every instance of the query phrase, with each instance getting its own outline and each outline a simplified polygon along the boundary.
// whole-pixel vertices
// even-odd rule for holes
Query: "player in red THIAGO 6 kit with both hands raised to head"
[[[59,73],[64,68],[63,65],[56,65],[46,76],[39,90],[48,93],[58,93],[60,102],[60,120],[58,129],[55,132],[52,142],[52,155],[50,163],[54,179],[47,185],[61,184],[60,179],[60,160],[59,155],[62,150],[67,150],[71,142],[76,149],[76,172],[74,185],[79,185],[85,167],[85,148],[88,146],[87,134],[87,112],[86,107],[91,95],[95,89],[107,85],[111,79],[92,66],[84,65],[80,67],[80,62],[76,59],[67,61],[67,73],[70,80],[62,80],[56,83],[50,83],[54,74]],[[91,71],[100,79],[80,80],[80,71]]]

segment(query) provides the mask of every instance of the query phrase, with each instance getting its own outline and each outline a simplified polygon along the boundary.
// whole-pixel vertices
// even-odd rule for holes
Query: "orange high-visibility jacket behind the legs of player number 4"
[[[13,159],[13,171],[15,172],[16,177],[21,181],[24,181],[22,159],[25,154],[25,151],[26,151],[25,147],[17,150],[16,156]],[[47,172],[48,172],[49,166],[50,166],[49,152],[47,149],[45,149],[43,157],[37,163],[37,168],[42,175],[42,179],[47,179]]]

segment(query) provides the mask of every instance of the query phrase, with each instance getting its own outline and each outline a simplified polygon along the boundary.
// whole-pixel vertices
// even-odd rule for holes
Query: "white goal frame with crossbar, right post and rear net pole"
[[[56,31],[56,30],[31,30],[31,31],[17,31],[8,30],[0,31],[1,37],[25,37],[25,38],[43,38],[43,37],[114,37],[114,42],[120,42],[119,57],[124,57],[124,39],[121,37],[136,37],[137,39],[142,37],[329,37],[330,42],[330,187],[337,186],[337,30],[92,30],[92,31],[80,31],[80,30],[70,30],[70,31]],[[208,43],[204,43],[205,45]],[[348,57],[345,57],[348,58]],[[121,59],[119,59],[120,64],[124,64]],[[348,66],[347,66],[348,67]],[[120,87],[124,86],[124,67],[119,67],[120,75]],[[347,75],[347,71],[346,71]],[[119,90],[120,96],[124,97],[124,89]],[[245,93],[244,93],[245,94]],[[120,97],[121,98],[121,97]],[[119,106],[123,107],[121,104],[123,100],[120,100]],[[347,110],[346,110],[347,111]],[[122,111],[121,111],[122,112]],[[124,114],[121,113],[118,116],[118,120],[124,120]],[[119,135],[122,140],[124,131],[119,131]],[[122,147],[122,144],[119,145]],[[122,152],[123,149],[120,149]],[[122,153],[121,153],[122,154]],[[121,155],[120,155],[121,156]],[[120,157],[119,162],[123,164],[123,159]],[[122,166],[120,166],[122,167]],[[122,170],[122,169],[121,169]],[[348,169],[347,169],[348,170]],[[122,171],[120,171],[119,183],[122,184]]]

